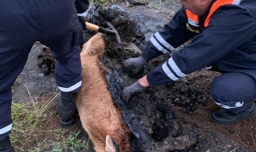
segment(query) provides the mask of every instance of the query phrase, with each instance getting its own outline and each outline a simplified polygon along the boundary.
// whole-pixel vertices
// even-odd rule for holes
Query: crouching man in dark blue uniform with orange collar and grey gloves
[[[123,90],[123,99],[148,86],[170,84],[193,71],[212,66],[222,71],[214,78],[210,96],[220,106],[211,115],[215,123],[235,123],[256,114],[256,1],[181,0],[173,20],[148,41],[137,58],[123,62],[133,73],[146,62],[193,38],[173,52],[163,65]]]

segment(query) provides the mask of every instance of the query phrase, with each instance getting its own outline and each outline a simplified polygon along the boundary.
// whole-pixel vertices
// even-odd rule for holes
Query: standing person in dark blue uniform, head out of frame
[[[60,123],[64,127],[73,124],[75,93],[79,92],[82,80],[82,17],[88,7],[87,0],[0,1],[0,152],[15,152],[9,139],[11,86],[23,70],[35,41],[52,50],[56,59],[55,79],[61,92]]]

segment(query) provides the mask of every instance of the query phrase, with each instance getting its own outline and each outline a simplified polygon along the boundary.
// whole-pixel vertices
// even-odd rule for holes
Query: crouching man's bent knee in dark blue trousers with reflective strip
[[[256,82],[244,73],[225,73],[214,78],[210,96],[221,108],[233,112],[245,111],[256,98]]]

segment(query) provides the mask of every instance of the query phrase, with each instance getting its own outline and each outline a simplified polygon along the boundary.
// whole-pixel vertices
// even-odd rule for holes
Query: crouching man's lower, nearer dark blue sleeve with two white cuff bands
[[[247,9],[219,8],[192,43],[175,52],[163,65],[147,74],[150,86],[168,84],[224,57],[256,35],[256,23]]]

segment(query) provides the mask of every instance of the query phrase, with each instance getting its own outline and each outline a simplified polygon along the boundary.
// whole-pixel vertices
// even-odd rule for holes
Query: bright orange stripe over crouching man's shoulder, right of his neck
[[[220,6],[223,6],[223,5],[227,5],[227,4],[236,4],[236,5],[239,5],[241,2],[241,0],[217,0],[216,2],[214,2],[212,4],[212,7],[210,9],[210,12],[208,14],[208,16],[206,17],[206,20],[204,21],[204,27],[207,27],[211,18],[212,18],[212,15],[214,14],[214,12],[220,7]]]

